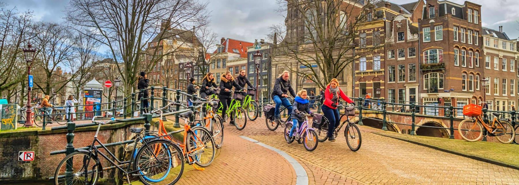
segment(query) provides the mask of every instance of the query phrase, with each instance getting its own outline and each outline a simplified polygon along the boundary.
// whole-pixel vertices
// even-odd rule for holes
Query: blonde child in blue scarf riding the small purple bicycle
[[[313,116],[313,112],[310,111],[310,101],[308,100],[308,95],[306,90],[301,90],[297,92],[297,96],[294,98],[294,104],[292,105],[292,108],[294,111],[292,112],[292,116],[290,117],[292,119],[292,130],[290,130],[289,136],[294,136],[294,131],[297,127],[301,127],[303,125],[303,122],[305,121],[303,119],[303,115],[299,115],[299,112],[308,113],[310,116]]]

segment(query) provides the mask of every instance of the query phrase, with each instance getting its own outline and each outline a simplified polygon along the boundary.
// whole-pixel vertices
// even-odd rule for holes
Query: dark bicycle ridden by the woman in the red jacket
[[[339,104],[339,105],[337,105],[337,108],[339,108],[339,107],[343,108],[344,106]],[[342,123],[340,123],[339,126],[337,126],[337,128],[333,131],[333,136],[334,136],[334,138],[337,138],[340,129],[343,128],[344,124],[348,123],[346,125],[346,129],[344,130],[344,137],[346,138],[346,144],[348,144],[348,147],[350,148],[351,151],[357,151],[360,149],[360,146],[362,145],[362,136],[360,133],[359,126],[357,126],[357,124],[355,124],[353,122],[350,122],[350,119],[349,119],[349,116],[355,115],[355,107],[351,106],[351,104],[350,104],[350,106],[344,107],[344,108],[345,108],[344,113],[340,116],[339,120],[337,120],[337,121],[343,120],[344,117],[346,117],[346,120],[343,121]],[[322,124],[320,124],[320,127],[317,128],[318,140],[320,142],[323,142],[326,139],[328,139],[329,121],[324,116],[322,116],[322,119],[324,119],[324,121],[322,121]]]

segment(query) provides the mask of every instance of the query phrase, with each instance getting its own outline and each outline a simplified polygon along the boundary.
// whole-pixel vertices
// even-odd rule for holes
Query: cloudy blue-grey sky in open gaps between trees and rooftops
[[[2,0],[0,0],[2,1]],[[268,26],[283,23],[284,17],[275,10],[276,0],[200,0],[209,2],[211,27],[219,37],[235,38],[246,41],[265,38]],[[390,0],[405,4],[416,0]],[[462,4],[465,0],[450,0]],[[10,7],[20,11],[31,9],[36,20],[63,21],[63,9],[69,0],[4,0]],[[471,0],[483,6],[481,15],[483,26],[503,30],[510,38],[519,37],[519,1],[518,0]],[[506,13],[506,14],[504,14]]]

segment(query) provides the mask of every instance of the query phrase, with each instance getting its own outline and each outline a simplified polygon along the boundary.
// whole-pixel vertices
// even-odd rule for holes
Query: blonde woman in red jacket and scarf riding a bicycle
[[[339,110],[337,110],[337,104],[339,104],[339,98],[342,97],[344,101],[354,104],[351,99],[344,94],[343,90],[339,88],[339,81],[337,79],[332,79],[326,90],[324,91],[324,104],[321,109],[324,112],[324,117],[326,117],[329,121],[328,124],[328,140],[335,141],[333,137],[333,131],[339,126],[340,117]]]

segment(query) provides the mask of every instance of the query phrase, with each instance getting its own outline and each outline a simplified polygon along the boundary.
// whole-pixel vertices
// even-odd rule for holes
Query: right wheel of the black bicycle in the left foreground
[[[171,141],[152,140],[137,152],[133,169],[139,170],[139,179],[144,184],[174,184],[184,172],[184,158],[180,148]]]

